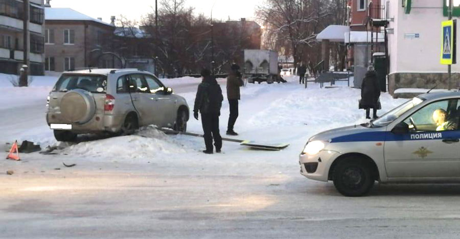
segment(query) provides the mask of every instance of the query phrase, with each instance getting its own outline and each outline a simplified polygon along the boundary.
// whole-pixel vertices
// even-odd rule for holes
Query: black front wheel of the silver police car
[[[348,197],[363,196],[374,185],[369,163],[359,159],[342,160],[334,170],[334,186]]]

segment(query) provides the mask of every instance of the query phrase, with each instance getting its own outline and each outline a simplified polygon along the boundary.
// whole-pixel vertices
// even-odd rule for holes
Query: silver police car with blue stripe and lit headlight
[[[301,174],[334,182],[344,196],[380,183],[460,182],[460,92],[426,93],[362,125],[311,137]],[[446,127],[448,125],[448,127]]]

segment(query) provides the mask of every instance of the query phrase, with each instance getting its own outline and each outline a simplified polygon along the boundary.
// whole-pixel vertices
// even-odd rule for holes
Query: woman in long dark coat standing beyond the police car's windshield
[[[374,118],[377,118],[377,109],[379,107],[380,86],[377,82],[374,66],[367,67],[367,73],[361,84],[361,109],[366,110],[366,118],[371,118],[369,113],[371,108],[374,109]]]

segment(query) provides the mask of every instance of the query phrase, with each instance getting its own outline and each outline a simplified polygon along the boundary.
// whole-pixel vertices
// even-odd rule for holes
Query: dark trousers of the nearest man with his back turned
[[[222,148],[222,137],[219,132],[219,114],[201,114],[201,125],[203,126],[206,151],[213,151],[213,138],[216,149],[220,150]]]

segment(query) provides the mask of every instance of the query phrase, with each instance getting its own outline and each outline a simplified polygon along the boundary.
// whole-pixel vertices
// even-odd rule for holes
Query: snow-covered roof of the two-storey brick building
[[[110,27],[110,23],[87,16],[72,8],[45,8],[45,20],[67,20],[67,21],[94,21]]]

